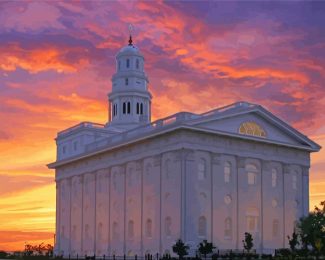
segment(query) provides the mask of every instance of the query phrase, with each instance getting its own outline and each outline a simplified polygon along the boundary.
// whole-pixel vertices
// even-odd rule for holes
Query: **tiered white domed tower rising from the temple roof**
[[[108,94],[108,126],[131,129],[151,122],[151,94],[144,71],[144,57],[133,44],[116,55],[116,73],[112,77],[112,92]]]

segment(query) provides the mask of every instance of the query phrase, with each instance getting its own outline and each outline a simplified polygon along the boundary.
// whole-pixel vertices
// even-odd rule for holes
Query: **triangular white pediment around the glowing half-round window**
[[[244,138],[254,137],[260,139],[261,141],[267,140],[276,143],[290,144],[293,146],[304,146],[306,148],[310,148],[311,150],[319,150],[320,147],[306,136],[302,135],[270,112],[265,110],[264,112],[263,110],[253,110],[247,111],[247,113],[242,112],[239,114],[228,114],[226,116],[210,116],[209,118],[202,118],[198,122],[193,122],[192,125],[208,130],[235,134]],[[240,127],[245,123],[249,123],[249,127],[251,123],[253,126],[256,124],[257,127],[260,127],[259,130],[264,131],[264,134],[258,136],[258,134],[256,134],[258,131],[256,131],[256,133],[252,133],[252,130],[249,130],[246,134],[241,133],[243,131],[240,131]],[[243,127],[241,130],[243,130]]]

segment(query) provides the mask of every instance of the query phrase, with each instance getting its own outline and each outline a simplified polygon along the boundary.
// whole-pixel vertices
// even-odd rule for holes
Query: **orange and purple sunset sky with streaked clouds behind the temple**
[[[0,250],[53,243],[56,133],[106,123],[128,24],[153,117],[258,103],[325,147],[325,2],[0,2]],[[310,208],[325,200],[312,155]]]

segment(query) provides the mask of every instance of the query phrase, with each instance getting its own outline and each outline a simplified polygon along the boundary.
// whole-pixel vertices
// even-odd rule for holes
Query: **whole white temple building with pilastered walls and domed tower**
[[[310,153],[320,146],[260,105],[238,102],[151,122],[144,57],[116,55],[105,125],[58,133],[55,253],[191,253],[203,239],[258,251],[288,246],[309,211]]]

